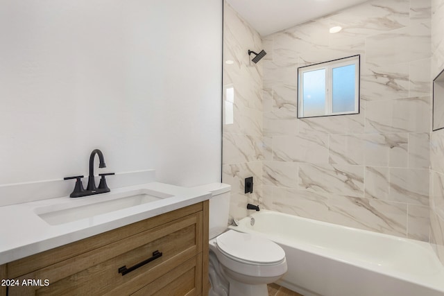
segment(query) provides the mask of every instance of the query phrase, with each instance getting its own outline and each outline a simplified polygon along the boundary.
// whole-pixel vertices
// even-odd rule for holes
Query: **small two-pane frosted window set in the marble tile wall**
[[[298,118],[359,113],[359,55],[298,68]]]

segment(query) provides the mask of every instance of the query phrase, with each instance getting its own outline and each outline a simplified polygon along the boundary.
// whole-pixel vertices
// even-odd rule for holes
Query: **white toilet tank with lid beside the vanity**
[[[212,193],[210,198],[210,239],[225,232],[228,227],[231,186],[223,183],[211,183],[194,187]]]

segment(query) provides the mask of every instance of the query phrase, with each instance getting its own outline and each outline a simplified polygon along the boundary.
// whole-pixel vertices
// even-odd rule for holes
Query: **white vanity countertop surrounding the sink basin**
[[[115,193],[125,193],[137,189],[159,191],[173,195],[173,197],[60,225],[49,225],[37,215],[40,209],[48,207],[54,207],[55,209],[78,207],[106,201],[107,197],[110,198]],[[89,236],[108,232],[146,218],[202,202],[203,200],[209,200],[210,197],[211,194],[202,189],[151,182],[112,189],[110,193],[89,195],[83,198],[51,198],[49,200],[38,200],[0,207],[0,221],[2,225],[0,229],[0,264],[79,241]]]

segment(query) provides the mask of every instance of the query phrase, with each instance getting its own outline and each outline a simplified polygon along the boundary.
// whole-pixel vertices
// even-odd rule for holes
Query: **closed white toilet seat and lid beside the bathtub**
[[[266,238],[228,230],[216,238],[218,250],[229,259],[248,265],[277,265],[285,252]]]

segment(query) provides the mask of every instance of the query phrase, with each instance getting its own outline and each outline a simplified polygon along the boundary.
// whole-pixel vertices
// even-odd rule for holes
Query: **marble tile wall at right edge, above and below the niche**
[[[444,69],[444,0],[432,0],[431,79]],[[444,130],[430,135],[430,242],[444,264]]]

